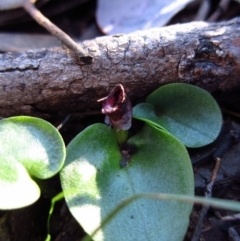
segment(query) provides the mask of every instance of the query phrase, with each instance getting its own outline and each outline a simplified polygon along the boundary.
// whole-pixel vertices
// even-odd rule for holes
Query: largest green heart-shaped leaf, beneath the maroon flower
[[[185,147],[166,131],[146,125],[129,142],[137,152],[120,168],[115,133],[95,124],[67,147],[60,173],[71,213],[91,234],[123,200],[137,193],[193,195],[191,162]],[[122,209],[94,235],[95,241],[182,240],[192,205],[140,199]]]

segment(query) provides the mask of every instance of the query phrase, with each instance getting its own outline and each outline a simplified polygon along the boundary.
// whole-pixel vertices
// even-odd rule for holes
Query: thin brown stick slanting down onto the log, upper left
[[[93,57],[85,52],[85,50],[73,41],[65,32],[59,29],[48,18],[46,18],[31,2],[26,0],[23,4],[23,8],[32,16],[32,18],[38,22],[42,27],[46,28],[53,36],[58,38],[64,45],[71,49],[81,61],[85,64],[91,64]]]

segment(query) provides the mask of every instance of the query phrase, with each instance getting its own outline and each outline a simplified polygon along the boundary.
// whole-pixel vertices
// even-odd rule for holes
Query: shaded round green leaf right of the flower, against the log
[[[187,147],[213,142],[221,129],[221,111],[203,89],[182,83],[160,87],[146,103],[133,109],[133,116],[167,129]]]

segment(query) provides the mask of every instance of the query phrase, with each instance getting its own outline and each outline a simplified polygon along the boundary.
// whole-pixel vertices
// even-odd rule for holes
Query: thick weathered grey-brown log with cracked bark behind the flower
[[[133,100],[185,82],[212,92],[240,85],[240,18],[194,22],[82,43],[94,57],[79,63],[65,48],[0,55],[0,115],[95,108],[122,83]]]

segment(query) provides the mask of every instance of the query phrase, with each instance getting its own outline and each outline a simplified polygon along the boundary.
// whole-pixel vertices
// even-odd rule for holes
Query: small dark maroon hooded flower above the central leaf
[[[117,130],[128,130],[132,124],[132,105],[121,84],[102,101],[102,113],[106,114],[105,123]]]

